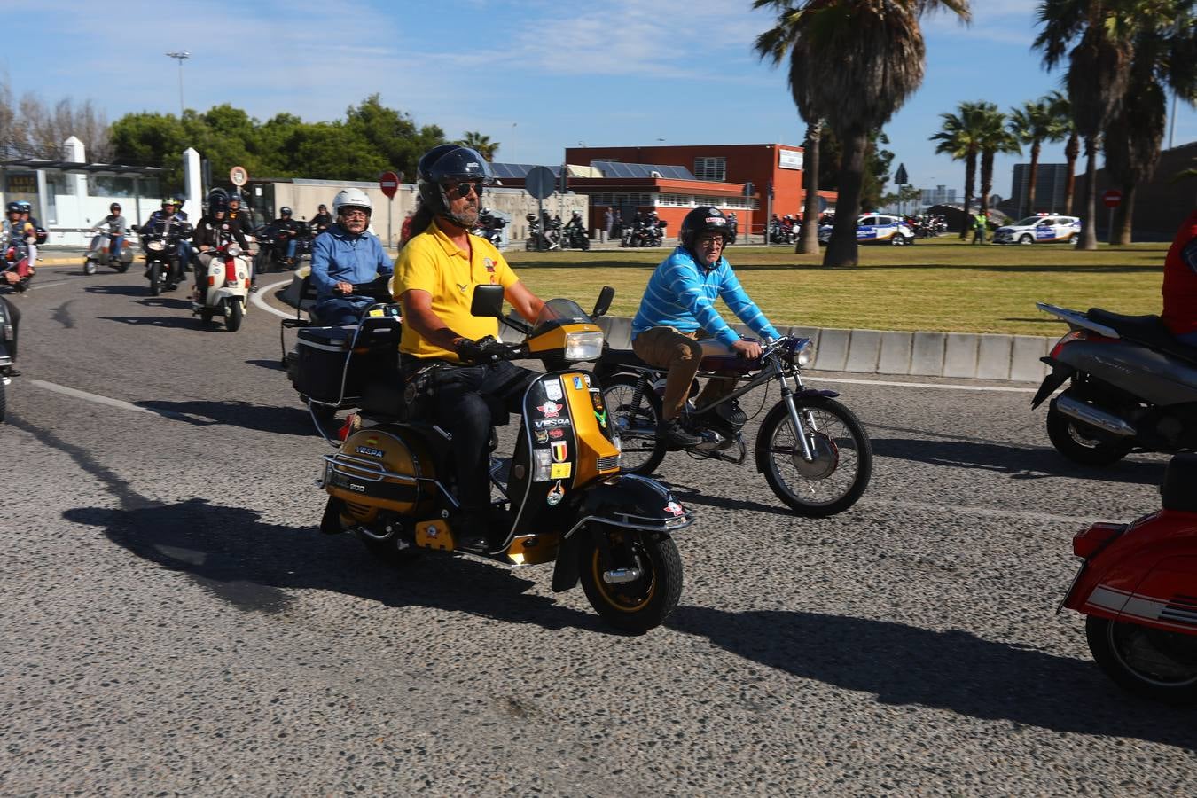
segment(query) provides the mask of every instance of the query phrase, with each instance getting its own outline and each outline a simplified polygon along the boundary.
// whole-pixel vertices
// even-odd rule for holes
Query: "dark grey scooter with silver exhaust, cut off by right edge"
[[[1159,316],[1086,312],[1035,303],[1069,333],[1041,358],[1052,371],[1031,407],[1047,406],[1047,437],[1073,462],[1108,465],[1132,451],[1197,449],[1197,347]]]

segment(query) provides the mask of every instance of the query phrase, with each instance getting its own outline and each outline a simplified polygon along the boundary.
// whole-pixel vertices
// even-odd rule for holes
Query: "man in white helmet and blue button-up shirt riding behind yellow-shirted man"
[[[369,232],[373,202],[361,189],[345,189],[333,200],[336,224],[311,245],[311,282],[316,286],[316,316],[330,327],[357,324],[371,297],[353,286],[372,282],[395,270],[378,237]]]

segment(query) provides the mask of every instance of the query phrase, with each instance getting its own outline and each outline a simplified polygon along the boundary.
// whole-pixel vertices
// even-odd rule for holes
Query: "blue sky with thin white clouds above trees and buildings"
[[[962,188],[962,164],[936,156],[928,141],[941,112],[978,99],[1009,109],[1062,79],[1029,49],[1037,0],[972,5],[968,26],[947,13],[924,19],[926,79],[885,128],[894,166],[904,163],[916,185]],[[505,162],[557,164],[579,142],[802,142],[784,67],[752,51],[773,17],[749,0],[607,0],[577,10],[548,0],[36,6],[7,16],[7,38],[53,45],[0,54],[13,91],[51,103],[91,99],[110,121],[140,110],[177,114],[178,62],[164,54],[188,50],[188,108],[231,103],[263,121],[281,111],[320,121],[377,92],[450,138],[490,135]],[[1197,140],[1197,110],[1178,108],[1174,144]],[[1063,145],[1046,145],[1043,159],[1063,162]],[[997,194],[1009,195],[1020,160],[998,159]]]

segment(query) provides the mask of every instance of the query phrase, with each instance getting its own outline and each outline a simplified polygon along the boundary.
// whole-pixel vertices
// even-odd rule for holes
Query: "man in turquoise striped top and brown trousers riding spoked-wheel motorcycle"
[[[676,446],[701,443],[678,416],[703,357],[735,353],[748,360],[760,358],[760,345],[741,339],[728,327],[715,309],[715,298],[721,297],[741,322],[766,341],[780,337],[723,257],[728,237],[728,219],[718,208],[700,206],[687,213],[681,223],[681,245],[649,278],[632,319],[636,355],[669,370],[657,435]],[[734,378],[711,378],[697,407],[711,404],[733,390]]]

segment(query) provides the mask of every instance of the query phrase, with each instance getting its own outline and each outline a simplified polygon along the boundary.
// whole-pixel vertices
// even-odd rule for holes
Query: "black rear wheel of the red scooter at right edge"
[[[1197,635],[1090,615],[1084,635],[1118,687],[1168,703],[1197,701]]]

